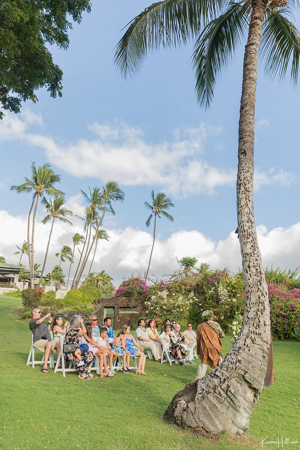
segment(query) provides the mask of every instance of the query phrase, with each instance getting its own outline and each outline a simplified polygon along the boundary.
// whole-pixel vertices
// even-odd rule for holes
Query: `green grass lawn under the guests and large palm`
[[[261,448],[262,436],[300,442],[300,342],[274,342],[276,380],[260,396],[248,439],[199,440],[159,419],[174,394],[195,378],[197,365],[147,359],[148,377],[117,373],[89,382],[75,372],[66,378],[53,369],[42,374],[40,366],[26,366],[31,333],[28,321],[12,314],[18,307],[18,298],[0,295],[0,450],[238,450]],[[230,349],[228,340],[222,340],[223,356]],[[300,444],[280,443],[280,448],[294,450]]]

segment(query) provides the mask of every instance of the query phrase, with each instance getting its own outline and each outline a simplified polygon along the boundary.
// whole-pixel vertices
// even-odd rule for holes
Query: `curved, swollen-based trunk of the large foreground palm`
[[[264,386],[270,344],[268,289],[258,247],[253,208],[254,112],[257,56],[264,18],[262,0],[252,2],[244,56],[239,121],[237,220],[246,287],[246,320],[224,361],[179,391],[164,417],[198,434],[244,432]]]

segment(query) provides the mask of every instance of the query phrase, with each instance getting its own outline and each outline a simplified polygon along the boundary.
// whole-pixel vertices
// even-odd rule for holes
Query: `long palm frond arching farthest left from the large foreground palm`
[[[222,0],[164,0],[135,17],[116,45],[115,66],[133,77],[149,51],[181,47],[198,35],[201,25],[215,14]]]

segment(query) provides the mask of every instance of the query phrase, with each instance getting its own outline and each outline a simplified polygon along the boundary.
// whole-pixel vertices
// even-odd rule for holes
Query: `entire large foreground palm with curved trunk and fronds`
[[[181,390],[165,413],[175,423],[198,427],[203,434],[247,430],[264,386],[270,318],[253,206],[257,60],[260,52],[266,74],[271,78],[278,75],[279,80],[291,68],[291,80],[296,85],[300,36],[287,16],[298,5],[287,0],[158,1],[134,18],[116,46],[115,62],[126,77],[134,76],[148,52],[161,45],[180,47],[196,40],[193,66],[197,100],[201,107],[209,107],[216,80],[237,49],[246,44],[237,169],[237,222],[246,286],[246,320],[223,363],[209,377]]]

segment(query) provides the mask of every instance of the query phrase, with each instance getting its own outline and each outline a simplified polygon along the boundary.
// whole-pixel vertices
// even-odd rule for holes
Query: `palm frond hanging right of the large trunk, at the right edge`
[[[296,86],[300,58],[300,36],[295,25],[276,9],[267,8],[260,41],[260,60],[266,76],[282,81],[291,62],[291,81]]]

